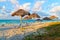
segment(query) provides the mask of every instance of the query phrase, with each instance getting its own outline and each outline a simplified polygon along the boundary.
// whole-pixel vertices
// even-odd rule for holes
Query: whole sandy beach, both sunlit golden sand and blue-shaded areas
[[[22,40],[24,36],[37,31],[39,28],[47,27],[53,24],[60,24],[60,22],[35,22],[30,26],[22,27],[22,28],[9,28],[9,27],[1,27],[0,28],[0,39],[1,40]]]

